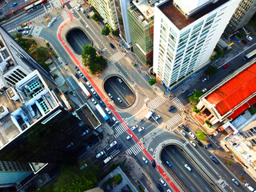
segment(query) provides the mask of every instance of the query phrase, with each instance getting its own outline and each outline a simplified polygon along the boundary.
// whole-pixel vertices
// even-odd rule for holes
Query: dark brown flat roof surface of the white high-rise
[[[209,14],[212,10],[215,10],[216,8],[218,8],[218,6],[222,6],[228,1],[229,0],[218,0],[218,2],[215,3],[208,3],[206,6],[203,6],[199,11],[195,11],[189,16],[186,16],[182,13],[181,10],[178,9],[178,7],[174,6],[174,0],[165,2],[162,5],[158,6],[158,8],[162,11],[163,14],[166,15],[167,18],[170,19],[171,22],[174,23],[178,30],[182,30],[184,27],[190,25],[198,18],[202,18],[202,16],[204,16],[205,14]]]

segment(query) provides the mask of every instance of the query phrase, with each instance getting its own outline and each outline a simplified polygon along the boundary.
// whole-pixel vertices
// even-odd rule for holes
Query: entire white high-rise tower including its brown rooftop
[[[170,0],[154,10],[154,72],[166,86],[209,62],[240,0]]]

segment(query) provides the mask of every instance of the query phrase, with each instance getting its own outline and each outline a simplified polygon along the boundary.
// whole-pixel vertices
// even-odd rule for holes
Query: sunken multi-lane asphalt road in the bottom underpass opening
[[[186,190],[189,191],[215,191],[209,182],[202,177],[198,170],[186,159],[184,154],[178,150],[176,146],[166,146],[165,150],[162,150],[161,154],[162,162],[165,163],[168,160],[172,166],[168,167],[169,171],[173,172],[179,181],[182,182]],[[187,170],[184,166],[187,164],[190,166],[191,171]]]

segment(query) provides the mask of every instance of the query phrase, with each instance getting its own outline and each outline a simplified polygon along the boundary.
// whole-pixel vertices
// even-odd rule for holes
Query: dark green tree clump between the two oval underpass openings
[[[106,68],[106,58],[97,56],[93,46],[82,47],[82,62],[88,66],[91,74],[96,74]]]

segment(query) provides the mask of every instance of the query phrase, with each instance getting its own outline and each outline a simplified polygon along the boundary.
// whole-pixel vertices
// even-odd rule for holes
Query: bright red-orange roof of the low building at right
[[[214,104],[218,113],[223,116],[254,92],[256,92],[256,63],[208,95],[206,100]]]

